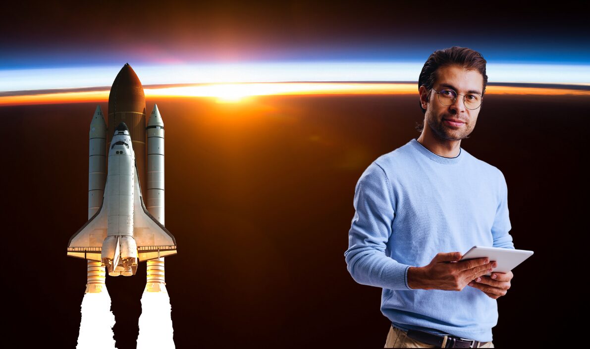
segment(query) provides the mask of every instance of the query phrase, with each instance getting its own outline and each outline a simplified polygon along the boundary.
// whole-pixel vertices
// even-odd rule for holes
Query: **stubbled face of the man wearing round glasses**
[[[481,96],[483,76],[477,70],[467,71],[458,65],[448,65],[438,68],[438,79],[432,88],[438,92],[451,88],[458,94],[453,104],[444,106],[433,90],[420,87],[422,108],[426,109],[425,121],[434,136],[441,140],[461,140],[469,136],[476,127],[481,106],[475,110],[467,109],[463,103],[463,95],[476,91]],[[430,101],[427,102],[425,97],[429,93]],[[452,123],[451,120],[457,123]]]

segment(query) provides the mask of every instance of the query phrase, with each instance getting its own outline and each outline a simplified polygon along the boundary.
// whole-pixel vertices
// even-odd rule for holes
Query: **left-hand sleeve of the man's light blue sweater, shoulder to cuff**
[[[373,162],[355,187],[355,215],[344,253],[347,269],[356,282],[388,289],[408,287],[410,265],[385,254],[395,216],[393,191],[382,167]]]

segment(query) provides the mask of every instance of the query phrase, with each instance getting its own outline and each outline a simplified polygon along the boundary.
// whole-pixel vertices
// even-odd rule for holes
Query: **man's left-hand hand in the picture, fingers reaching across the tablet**
[[[408,269],[408,286],[412,289],[444,289],[461,291],[471,281],[496,268],[489,258],[459,261],[460,252],[437,253],[427,266],[412,266]]]

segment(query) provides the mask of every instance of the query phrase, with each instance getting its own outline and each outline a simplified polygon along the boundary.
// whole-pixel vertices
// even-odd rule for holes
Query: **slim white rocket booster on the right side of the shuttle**
[[[153,106],[146,127],[148,134],[148,210],[164,225],[164,121],[158,104]],[[147,262],[144,292],[167,292],[164,258]]]

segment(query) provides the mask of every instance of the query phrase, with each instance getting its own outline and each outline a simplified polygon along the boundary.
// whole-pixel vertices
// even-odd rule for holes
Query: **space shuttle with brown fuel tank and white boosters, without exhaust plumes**
[[[157,105],[147,124],[145,110],[143,87],[125,64],[110,90],[111,128],[100,106],[90,123],[89,220],[67,246],[68,256],[88,261],[86,293],[101,292],[105,268],[131,276],[144,261],[146,291],[165,291],[164,257],[176,254],[176,239],[164,226],[164,124]]]

